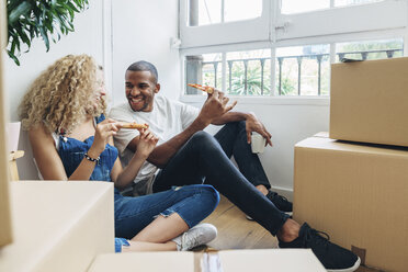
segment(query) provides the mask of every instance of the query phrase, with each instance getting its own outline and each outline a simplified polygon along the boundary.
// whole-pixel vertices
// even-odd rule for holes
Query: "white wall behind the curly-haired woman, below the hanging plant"
[[[11,121],[19,121],[18,106],[30,84],[56,59],[68,54],[89,54],[103,64],[101,26],[102,1],[90,1],[90,8],[75,19],[76,32],[63,36],[57,44],[50,44],[48,53],[43,41],[36,39],[30,52],[21,55],[21,66],[16,66],[4,56],[5,101],[9,102],[8,112]],[[26,133],[20,136],[19,149],[25,151],[25,156],[18,159],[20,179],[37,179]]]

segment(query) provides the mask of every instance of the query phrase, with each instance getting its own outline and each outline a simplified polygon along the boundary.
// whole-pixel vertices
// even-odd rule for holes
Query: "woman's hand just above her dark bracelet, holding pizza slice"
[[[103,150],[105,150],[106,144],[112,136],[116,135],[118,131],[116,121],[106,118],[99,123],[95,128],[95,135],[91,148],[88,150],[88,155],[91,158],[98,158]]]

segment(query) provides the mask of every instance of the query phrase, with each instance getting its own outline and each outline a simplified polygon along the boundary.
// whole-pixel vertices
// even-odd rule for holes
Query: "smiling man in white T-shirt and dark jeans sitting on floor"
[[[159,137],[158,146],[148,158],[150,165],[141,169],[136,182],[145,183],[154,192],[172,185],[212,184],[276,236],[281,248],[311,248],[322,264],[332,271],[354,271],[359,267],[360,259],[355,254],[331,243],[307,224],[301,226],[291,219],[276,208],[276,196],[265,197],[270,194],[270,185],[248,143],[250,133],[258,132],[272,145],[271,135],[253,114],[229,112],[236,103],[228,105],[228,98],[217,90],[208,94],[201,110],[155,97],[160,84],[155,66],[147,61],[131,65],[125,79],[128,103],[113,107],[111,117],[148,123]],[[213,137],[203,132],[209,124],[226,125]],[[136,131],[121,129],[115,136],[124,161],[135,151],[137,143]],[[231,155],[241,172],[229,160]],[[156,166],[161,170],[155,177]]]

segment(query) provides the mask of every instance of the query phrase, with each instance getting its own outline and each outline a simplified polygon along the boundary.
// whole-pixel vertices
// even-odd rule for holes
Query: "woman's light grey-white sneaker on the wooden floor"
[[[200,245],[211,242],[215,237],[217,237],[217,228],[211,224],[203,223],[190,228],[172,241],[175,242],[178,251],[186,251]]]

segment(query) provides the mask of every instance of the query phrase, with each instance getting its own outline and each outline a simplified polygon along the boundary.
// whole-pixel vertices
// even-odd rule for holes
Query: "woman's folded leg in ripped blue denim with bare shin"
[[[207,217],[218,201],[211,185],[172,188],[139,197],[115,194],[115,233],[134,241],[168,242]]]

